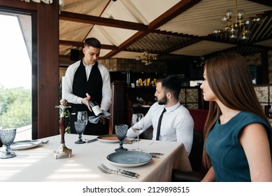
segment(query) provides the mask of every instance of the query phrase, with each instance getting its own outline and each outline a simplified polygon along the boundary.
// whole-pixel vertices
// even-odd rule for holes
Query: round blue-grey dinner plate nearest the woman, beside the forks
[[[149,153],[140,151],[120,151],[108,155],[107,160],[120,167],[138,167],[150,162],[152,156]]]

